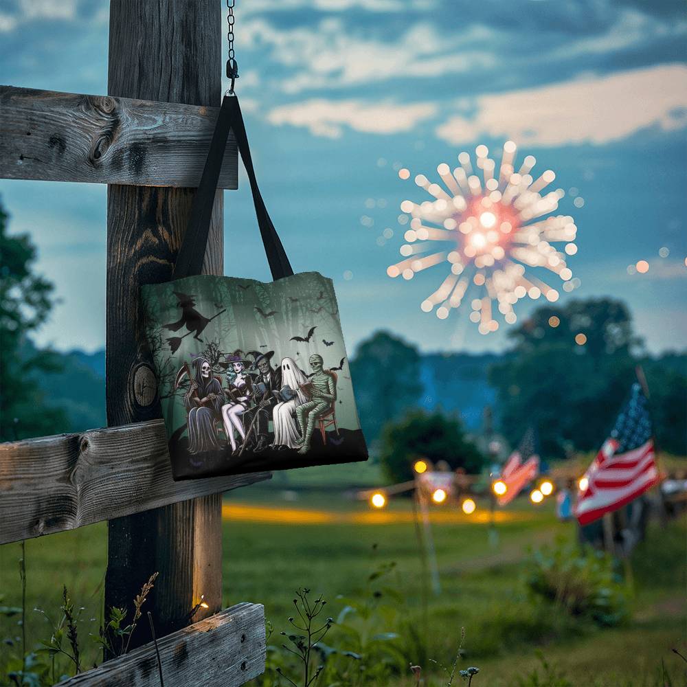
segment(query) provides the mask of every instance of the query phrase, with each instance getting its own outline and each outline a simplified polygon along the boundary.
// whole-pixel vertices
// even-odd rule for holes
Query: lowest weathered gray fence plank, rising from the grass
[[[157,641],[165,687],[237,687],[264,671],[264,608],[241,603]],[[60,687],[159,687],[151,642]]]

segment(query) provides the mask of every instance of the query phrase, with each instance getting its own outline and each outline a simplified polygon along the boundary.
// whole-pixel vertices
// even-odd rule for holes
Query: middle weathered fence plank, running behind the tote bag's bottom
[[[174,482],[162,420],[0,444],[0,544],[228,491],[269,476]]]

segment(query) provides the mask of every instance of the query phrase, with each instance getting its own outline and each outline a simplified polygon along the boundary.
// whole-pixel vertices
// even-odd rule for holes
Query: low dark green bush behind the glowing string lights
[[[435,464],[444,460],[452,469],[464,468],[468,473],[478,473],[484,464],[484,456],[466,438],[458,418],[419,409],[385,425],[380,450],[385,472],[395,482],[412,480],[418,458]]]

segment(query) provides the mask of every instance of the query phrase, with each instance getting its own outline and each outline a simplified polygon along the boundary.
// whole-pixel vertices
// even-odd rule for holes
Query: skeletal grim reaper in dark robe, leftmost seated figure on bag
[[[222,385],[212,376],[207,358],[199,356],[192,365],[194,374],[183,399],[188,410],[188,450],[190,453],[214,451],[220,448],[214,425],[222,417]]]

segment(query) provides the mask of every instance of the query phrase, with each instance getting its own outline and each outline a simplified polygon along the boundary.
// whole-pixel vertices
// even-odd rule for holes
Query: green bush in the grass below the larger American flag
[[[627,617],[627,598],[613,567],[611,556],[558,539],[534,552],[527,586],[570,616],[609,627]]]

